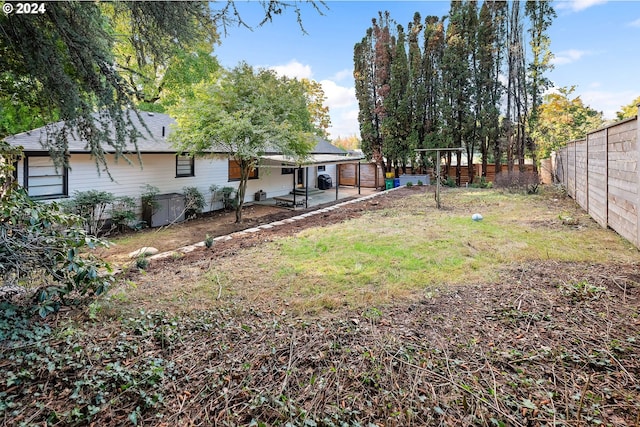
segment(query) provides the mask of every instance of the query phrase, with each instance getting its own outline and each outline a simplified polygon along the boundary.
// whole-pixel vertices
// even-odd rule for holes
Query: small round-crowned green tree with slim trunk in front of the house
[[[305,85],[242,63],[194,88],[194,98],[170,109],[180,150],[202,155],[222,149],[240,165],[236,222],[242,222],[247,181],[260,158],[277,150],[303,158],[313,148],[314,128]]]

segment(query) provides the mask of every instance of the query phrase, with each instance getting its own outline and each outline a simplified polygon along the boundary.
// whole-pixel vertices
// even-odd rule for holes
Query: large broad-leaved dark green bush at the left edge
[[[82,218],[55,203],[32,201],[22,189],[11,189],[0,205],[0,273],[35,293],[33,310],[42,317],[78,297],[100,295],[113,281],[107,263],[87,249],[106,242],[83,228]]]

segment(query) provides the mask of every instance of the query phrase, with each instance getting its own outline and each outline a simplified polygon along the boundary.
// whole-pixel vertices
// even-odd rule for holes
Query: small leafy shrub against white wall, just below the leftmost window
[[[64,203],[65,209],[84,219],[87,233],[97,236],[104,229],[105,213],[116,200],[113,193],[101,190],[76,191],[72,199]]]

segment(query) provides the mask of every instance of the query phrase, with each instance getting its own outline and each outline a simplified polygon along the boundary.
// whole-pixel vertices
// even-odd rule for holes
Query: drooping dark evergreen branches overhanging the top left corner
[[[221,7],[216,8],[218,4]],[[312,4],[319,11],[323,6]],[[135,144],[138,136],[127,107],[137,105],[136,94],[145,89],[145,85],[138,86],[142,77],[133,78],[131,73],[136,69],[146,72],[147,65],[165,67],[161,62],[167,59],[167,52],[189,46],[195,49],[205,30],[244,24],[233,1],[117,2],[112,7],[127,25],[122,34],[118,34],[118,22],[107,13],[111,6],[65,1],[48,2],[45,7],[42,14],[0,14],[0,105],[4,112],[8,103],[19,103],[42,114],[45,122],[63,121],[61,127],[50,126],[43,141],[58,164],[65,161],[72,131],[87,141],[98,165],[106,166],[107,148],[122,155],[127,143]],[[301,22],[297,1],[269,1],[263,7],[263,23],[286,9],[293,9]],[[115,65],[118,54],[114,47],[123,34],[131,35],[130,53],[136,58],[130,62],[135,63],[130,79],[123,67]],[[3,132],[28,130],[24,126],[30,123],[11,125],[5,125]]]

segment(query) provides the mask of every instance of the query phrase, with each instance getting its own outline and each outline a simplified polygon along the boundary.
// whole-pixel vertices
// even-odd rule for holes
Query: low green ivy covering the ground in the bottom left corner
[[[177,322],[141,312],[118,323],[122,333],[97,343],[87,339],[81,325],[54,330],[24,313],[0,310],[0,356],[11,359],[1,380],[0,417],[16,419],[48,387],[66,393],[68,404],[55,412],[35,403],[41,405],[37,417],[43,424],[88,425],[119,405],[127,407],[130,421],[141,421],[161,407],[164,384],[175,379],[176,366],[161,354],[139,357],[139,352],[156,342],[170,349]]]

